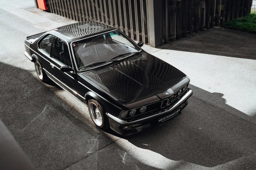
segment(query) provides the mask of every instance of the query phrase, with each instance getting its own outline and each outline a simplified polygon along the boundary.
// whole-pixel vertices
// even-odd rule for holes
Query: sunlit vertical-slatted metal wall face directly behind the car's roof
[[[46,0],[47,11],[75,21],[99,21],[148,44],[147,1]]]

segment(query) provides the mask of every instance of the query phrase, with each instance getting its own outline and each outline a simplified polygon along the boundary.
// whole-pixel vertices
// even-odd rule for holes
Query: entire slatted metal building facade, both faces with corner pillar
[[[157,47],[250,13],[251,0],[45,0],[47,11],[99,21]]]

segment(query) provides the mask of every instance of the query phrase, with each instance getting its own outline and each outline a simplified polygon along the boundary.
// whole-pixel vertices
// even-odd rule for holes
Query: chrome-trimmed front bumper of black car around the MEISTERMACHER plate
[[[187,100],[192,94],[193,91],[191,89],[188,89],[188,92],[183,97],[181,97],[175,104],[134,121],[122,120],[108,113],[107,116],[109,118],[110,128],[117,132],[118,134],[131,135],[146,130],[148,128],[157,126],[158,118],[161,118],[164,115],[172,111],[175,111],[178,108],[180,108],[181,110],[184,109],[188,105]]]

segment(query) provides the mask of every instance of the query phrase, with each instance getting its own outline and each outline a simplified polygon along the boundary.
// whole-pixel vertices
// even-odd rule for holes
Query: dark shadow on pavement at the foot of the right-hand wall
[[[253,33],[218,27],[158,48],[256,60],[255,39]]]

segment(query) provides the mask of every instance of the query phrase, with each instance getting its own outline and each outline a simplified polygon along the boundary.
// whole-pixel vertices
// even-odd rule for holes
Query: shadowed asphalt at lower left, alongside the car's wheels
[[[112,144],[85,105],[35,76],[34,70],[0,62],[0,119],[36,169],[158,169]],[[67,96],[57,95],[63,92]],[[78,102],[80,110],[69,101]]]

